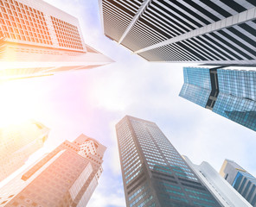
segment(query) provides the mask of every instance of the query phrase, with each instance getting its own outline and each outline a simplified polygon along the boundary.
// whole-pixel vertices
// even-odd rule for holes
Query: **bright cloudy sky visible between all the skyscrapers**
[[[179,153],[195,164],[208,161],[219,172],[224,159],[230,159],[256,175],[255,132],[178,96],[182,66],[191,64],[147,62],[106,38],[96,0],[46,2],[76,16],[86,44],[115,62],[0,85],[1,120],[12,122],[18,115],[51,129],[45,146],[29,163],[62,141],[82,133],[93,137],[107,150],[104,172],[87,206],[125,207],[115,124],[130,115],[156,122]]]

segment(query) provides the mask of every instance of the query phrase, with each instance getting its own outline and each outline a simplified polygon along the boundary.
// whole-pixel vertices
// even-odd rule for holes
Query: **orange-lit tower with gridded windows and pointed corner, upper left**
[[[104,66],[112,60],[85,44],[79,21],[42,0],[1,0],[0,77],[26,78]],[[0,42],[1,46],[1,42]]]

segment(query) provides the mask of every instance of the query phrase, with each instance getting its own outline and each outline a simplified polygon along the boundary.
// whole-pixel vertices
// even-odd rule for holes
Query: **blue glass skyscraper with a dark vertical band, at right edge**
[[[184,67],[183,73],[181,97],[256,131],[255,71]]]

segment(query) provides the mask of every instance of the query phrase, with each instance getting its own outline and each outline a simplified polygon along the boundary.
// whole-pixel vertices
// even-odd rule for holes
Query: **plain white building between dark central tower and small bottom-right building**
[[[203,161],[201,165],[195,165],[188,157],[183,156],[183,158],[202,180],[203,184],[208,187],[208,190],[214,194],[215,198],[218,198],[222,206],[252,207],[208,162]]]

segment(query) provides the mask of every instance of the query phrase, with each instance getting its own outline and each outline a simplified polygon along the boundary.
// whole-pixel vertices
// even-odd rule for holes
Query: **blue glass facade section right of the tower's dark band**
[[[218,69],[214,112],[256,131],[256,72]]]

